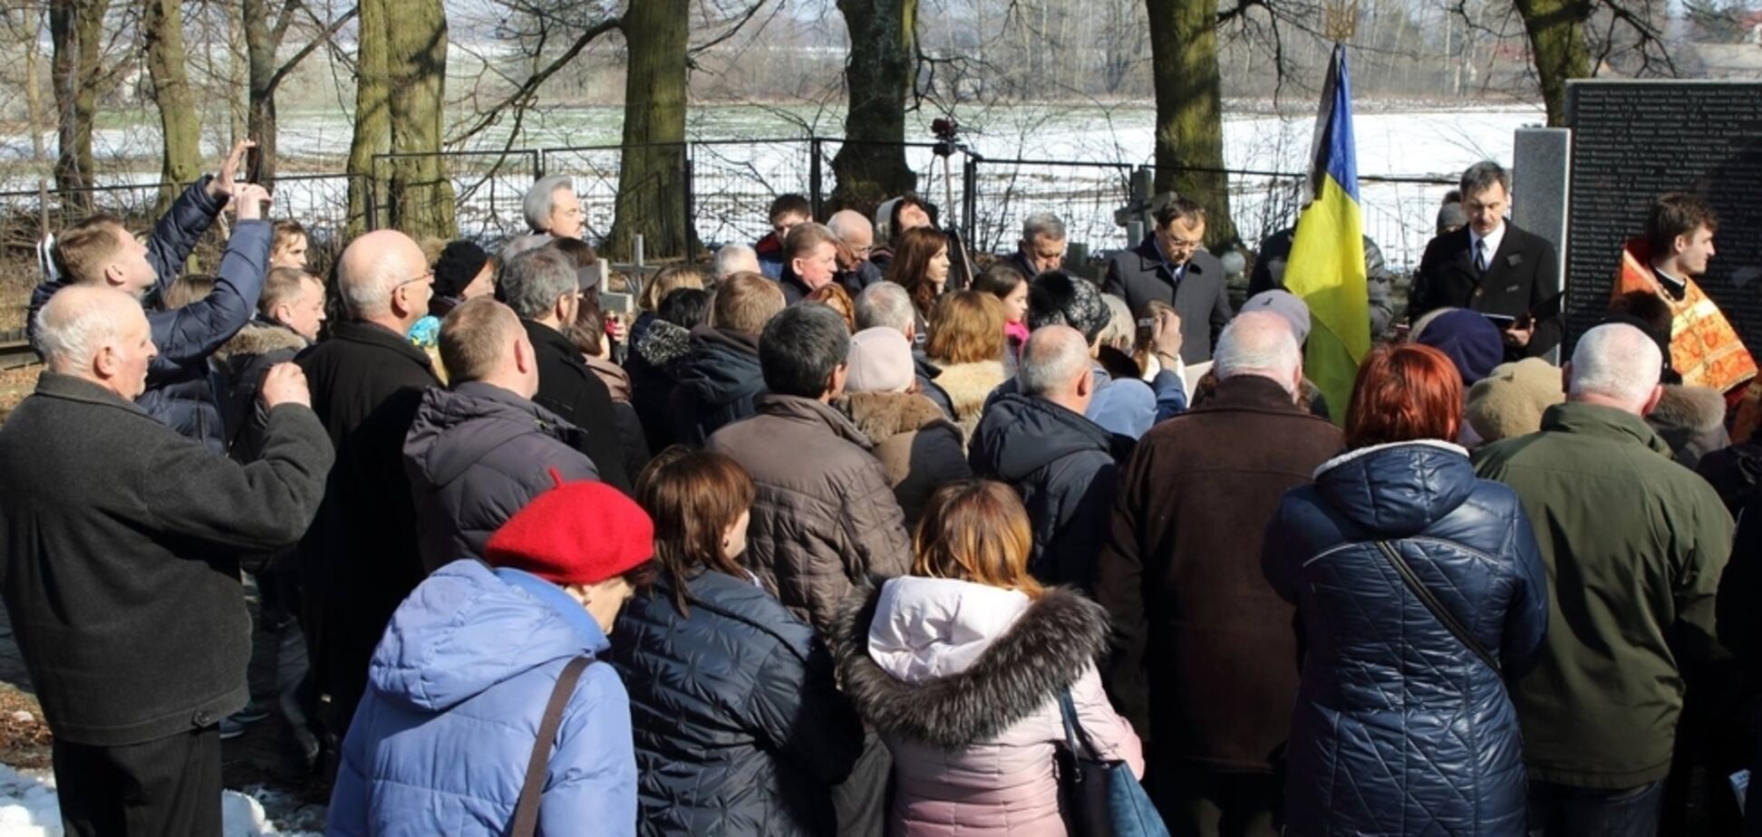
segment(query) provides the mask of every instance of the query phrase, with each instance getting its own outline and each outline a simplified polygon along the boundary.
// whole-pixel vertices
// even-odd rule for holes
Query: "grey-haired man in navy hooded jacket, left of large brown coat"
[[[1015,381],[973,430],[973,472],[1022,495],[1034,527],[1027,569],[1043,583],[1094,587],[1096,544],[1107,534],[1119,463],[1133,439],[1084,418],[1096,395],[1089,340],[1043,326],[1022,345]]]

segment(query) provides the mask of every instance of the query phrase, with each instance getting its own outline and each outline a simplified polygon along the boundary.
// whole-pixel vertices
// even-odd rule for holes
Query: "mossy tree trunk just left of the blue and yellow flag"
[[[1156,81],[1156,190],[1205,206],[1205,243],[1235,243],[1223,169],[1223,81],[1218,74],[1218,4],[1145,0],[1151,76]],[[1195,171],[1210,169],[1210,171]],[[1135,241],[1136,243],[1136,241]]]

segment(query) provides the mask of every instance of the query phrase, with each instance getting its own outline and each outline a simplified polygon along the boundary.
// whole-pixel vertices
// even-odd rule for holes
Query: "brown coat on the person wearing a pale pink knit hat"
[[[918,525],[937,488],[973,476],[960,453],[960,428],[918,393],[848,393],[833,407],[874,444],[906,530]]]

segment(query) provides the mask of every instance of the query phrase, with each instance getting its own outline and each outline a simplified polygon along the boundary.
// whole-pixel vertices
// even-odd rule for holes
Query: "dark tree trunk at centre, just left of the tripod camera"
[[[839,0],[851,53],[844,62],[849,111],[846,143],[832,157],[828,211],[856,210],[874,215],[888,197],[918,189],[918,174],[906,164],[906,99],[911,95],[913,33],[918,0]],[[886,143],[886,144],[867,144]],[[946,206],[951,213],[953,206]]]

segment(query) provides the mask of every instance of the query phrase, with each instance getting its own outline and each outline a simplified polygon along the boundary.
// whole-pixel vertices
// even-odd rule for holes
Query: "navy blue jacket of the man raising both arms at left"
[[[224,201],[208,197],[208,180],[204,176],[190,183],[159,219],[146,241],[146,261],[159,275],[155,291],[160,294],[183,273],[190,250],[226,206]],[[238,222],[215,271],[215,289],[208,296],[176,310],[150,305],[146,312],[159,356],[148,367],[146,391],[136,402],[166,426],[203,442],[213,453],[226,453],[229,430],[220,421],[218,393],[208,377],[208,356],[255,314],[271,240],[270,222]],[[26,321],[32,340],[37,310],[65,285],[65,280],[44,282],[32,291]]]

